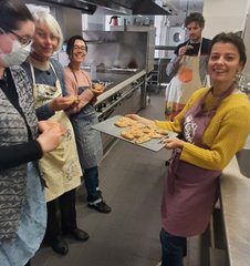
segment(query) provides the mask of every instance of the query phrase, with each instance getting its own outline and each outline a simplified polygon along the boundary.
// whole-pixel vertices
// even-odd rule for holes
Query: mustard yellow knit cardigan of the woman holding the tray
[[[196,91],[173,122],[155,121],[156,125],[160,129],[180,133],[184,114],[207,91],[208,89]],[[209,93],[205,101],[205,109],[211,109],[217,101],[218,99]],[[243,93],[232,93],[223,99],[204,133],[202,142],[209,149],[202,149],[186,142],[180,160],[207,170],[223,170],[233,155],[243,147],[249,133],[249,99]]]

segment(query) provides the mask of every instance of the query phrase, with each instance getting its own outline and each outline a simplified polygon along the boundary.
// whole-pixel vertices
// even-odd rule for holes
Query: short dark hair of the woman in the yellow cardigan
[[[221,32],[217,34],[211,40],[209,54],[211,53],[212,47],[218,42],[233,44],[240,54],[240,62],[242,63],[242,65],[246,64],[247,62],[246,47],[241,37],[239,37],[237,33],[233,33],[233,32],[228,32],[228,33]]]

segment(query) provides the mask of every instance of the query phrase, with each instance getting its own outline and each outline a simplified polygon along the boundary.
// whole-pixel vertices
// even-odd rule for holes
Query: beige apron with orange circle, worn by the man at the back
[[[202,41],[197,55],[184,55],[177,74],[171,79],[166,89],[165,114],[168,120],[174,120],[184,109],[191,94],[202,86],[200,63],[205,63],[206,60],[201,59],[204,55],[200,55],[201,45]]]

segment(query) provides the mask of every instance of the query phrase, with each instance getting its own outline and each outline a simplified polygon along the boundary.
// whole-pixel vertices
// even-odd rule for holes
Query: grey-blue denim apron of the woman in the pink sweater
[[[75,74],[74,78],[76,83],[79,83]],[[77,94],[82,94],[91,86],[92,83],[88,80],[86,86],[79,86]],[[71,122],[75,133],[82,168],[87,170],[97,166],[103,156],[103,144],[101,133],[92,129],[92,125],[98,123],[94,106],[91,103],[87,103],[79,113],[71,116]]]

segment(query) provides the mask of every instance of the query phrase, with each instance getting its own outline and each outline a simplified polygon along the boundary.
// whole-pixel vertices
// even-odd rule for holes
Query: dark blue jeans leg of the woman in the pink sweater
[[[100,194],[96,190],[98,187],[98,167],[95,166],[84,170],[83,176],[87,192],[86,201],[88,203],[101,201]]]

